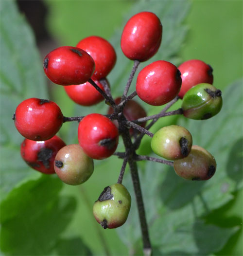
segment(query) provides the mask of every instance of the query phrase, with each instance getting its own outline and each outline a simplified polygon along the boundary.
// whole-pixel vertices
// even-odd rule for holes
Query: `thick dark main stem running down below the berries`
[[[128,164],[131,170],[133,187],[134,187],[137,206],[139,210],[139,220],[140,220],[140,227],[141,227],[142,240],[143,240],[143,252],[144,252],[144,255],[149,256],[151,255],[152,248],[151,248],[151,243],[149,239],[148,225],[147,225],[146,214],[145,214],[145,209],[143,204],[142,191],[141,191],[140,182],[139,182],[138,166],[136,161],[134,161],[135,151],[132,147],[131,137],[129,136],[129,130],[127,128],[123,130],[121,136],[126,149],[127,150],[129,149]]]

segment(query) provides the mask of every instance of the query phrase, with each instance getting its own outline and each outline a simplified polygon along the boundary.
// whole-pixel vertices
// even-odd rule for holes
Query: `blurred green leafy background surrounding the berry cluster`
[[[242,1],[48,0],[45,4],[49,10],[46,24],[60,45],[74,46],[90,35],[110,39],[118,55],[108,76],[115,96],[121,94],[132,66],[121,53],[122,27],[139,11],[155,12],[163,24],[158,54],[139,69],[157,59],[178,65],[190,58],[213,67],[214,85],[223,90],[223,110],[206,121],[166,117],[152,129],[175,122],[188,128],[194,144],[205,146],[216,158],[213,179],[190,183],[157,163],[139,163],[139,172],[155,255],[242,255],[243,99],[242,80],[238,79],[243,69]],[[0,19],[2,255],[141,255],[128,168],[124,185],[133,203],[126,224],[117,231],[104,231],[92,215],[93,202],[103,188],[116,183],[121,160],[112,156],[95,161],[95,172],[87,183],[69,186],[35,172],[20,158],[23,138],[11,116],[23,99],[45,98],[48,93],[33,33],[13,1],[1,1]],[[107,109],[104,103],[91,108],[76,106],[63,88],[53,90],[53,100],[64,115]],[[174,109],[179,107],[180,101]],[[146,106],[151,114],[160,109]],[[64,126],[60,134],[65,142],[77,143],[77,123]],[[120,143],[118,150],[122,149]],[[151,153],[150,138],[143,139],[140,152]]]

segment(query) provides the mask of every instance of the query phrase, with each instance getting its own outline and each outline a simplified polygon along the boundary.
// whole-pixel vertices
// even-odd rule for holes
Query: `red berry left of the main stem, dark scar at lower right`
[[[104,115],[89,114],[79,123],[79,145],[93,159],[111,156],[117,148],[118,139],[118,128]]]

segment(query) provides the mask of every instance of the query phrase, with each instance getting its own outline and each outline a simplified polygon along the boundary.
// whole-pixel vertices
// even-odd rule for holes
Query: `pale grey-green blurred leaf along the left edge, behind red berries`
[[[21,160],[23,137],[17,132],[12,116],[26,98],[47,97],[42,62],[35,39],[14,1],[0,6],[0,115],[1,115],[1,199],[22,179],[39,177]]]

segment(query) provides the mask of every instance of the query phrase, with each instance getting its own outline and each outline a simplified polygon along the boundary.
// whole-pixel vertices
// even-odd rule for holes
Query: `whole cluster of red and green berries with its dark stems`
[[[107,114],[65,117],[50,100],[37,98],[21,102],[14,114],[17,130],[25,137],[21,156],[28,165],[46,173],[56,173],[67,184],[86,182],[94,170],[93,159],[102,160],[117,155],[123,159],[118,182],[107,186],[94,203],[95,219],[104,228],[116,228],[127,219],[131,196],[121,184],[125,166],[131,168],[135,193],[139,204],[140,222],[144,222],[137,161],[150,160],[174,165],[175,173],[187,180],[208,180],[216,170],[214,157],[204,148],[192,145],[192,136],[184,127],[171,125],[155,134],[149,128],[161,117],[183,114],[187,118],[203,120],[217,114],[222,107],[221,91],[213,85],[212,68],[201,60],[188,60],[178,68],[165,60],[144,67],[137,76],[136,91],[127,96],[140,62],[156,54],[162,40],[162,24],[151,12],[141,12],[126,23],[121,35],[121,50],[134,60],[133,70],[123,95],[113,99],[106,79],[116,63],[116,52],[102,37],[87,37],[76,47],[62,46],[44,58],[43,68],[48,78],[63,85],[69,97],[82,106],[92,106],[105,99]],[[158,114],[147,116],[133,98],[150,105],[166,107]],[[177,100],[181,108],[167,111]],[[146,122],[151,122],[146,126]],[[78,121],[78,144],[65,145],[55,134],[62,124]],[[136,153],[144,135],[152,137],[151,148],[160,157]],[[115,152],[121,135],[125,152]],[[143,219],[144,218],[144,219]],[[146,219],[145,219],[146,223]],[[148,236],[146,224],[142,233]],[[144,231],[145,230],[145,231]],[[149,247],[149,238],[144,238]]]

